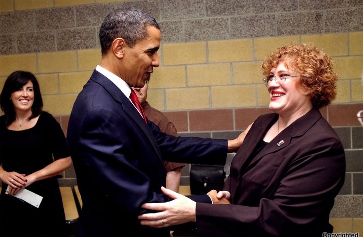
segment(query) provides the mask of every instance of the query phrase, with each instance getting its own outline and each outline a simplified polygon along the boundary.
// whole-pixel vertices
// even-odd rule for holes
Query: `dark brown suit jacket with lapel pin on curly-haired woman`
[[[322,237],[345,178],[341,140],[318,109],[251,154],[278,119],[259,117],[231,163],[225,190],[233,205],[197,203],[199,236]]]

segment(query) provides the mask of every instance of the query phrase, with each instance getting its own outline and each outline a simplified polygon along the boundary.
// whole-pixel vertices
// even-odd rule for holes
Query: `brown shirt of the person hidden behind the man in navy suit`
[[[166,116],[162,112],[156,110],[155,108],[152,108],[147,101],[145,101],[142,108],[144,110],[147,119],[154,122],[162,132],[165,132],[166,134],[169,135],[178,136],[178,132],[176,130],[174,123],[169,121],[169,119],[166,118]],[[166,172],[184,166],[185,165],[182,163],[164,161],[164,167]]]

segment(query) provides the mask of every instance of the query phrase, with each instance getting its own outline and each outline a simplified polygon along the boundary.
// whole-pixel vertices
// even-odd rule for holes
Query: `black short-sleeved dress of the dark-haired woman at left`
[[[4,116],[1,116],[0,163],[7,172],[28,175],[52,163],[53,157],[56,160],[69,156],[64,133],[49,113],[42,112],[36,124],[25,130],[9,130],[4,124]],[[65,217],[55,177],[26,187],[43,197],[39,208],[8,196],[6,188],[7,184],[2,183],[0,236],[61,236]]]

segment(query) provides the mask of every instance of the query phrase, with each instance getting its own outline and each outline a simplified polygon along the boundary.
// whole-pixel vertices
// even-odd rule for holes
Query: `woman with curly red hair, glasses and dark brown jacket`
[[[217,197],[231,205],[175,200],[144,204],[142,225],[196,222],[199,236],[321,237],[345,178],[345,153],[319,109],[336,97],[332,60],[310,44],[278,48],[262,65],[273,114],[257,118]]]

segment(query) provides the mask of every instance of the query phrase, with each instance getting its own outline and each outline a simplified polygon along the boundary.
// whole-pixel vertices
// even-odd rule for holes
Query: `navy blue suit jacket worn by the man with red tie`
[[[70,115],[67,141],[83,207],[79,237],[169,236],[143,227],[137,216],[147,202],[166,202],[163,158],[225,163],[227,141],[174,137],[141,118],[109,79],[96,70]],[[202,201],[210,202],[207,195]]]

